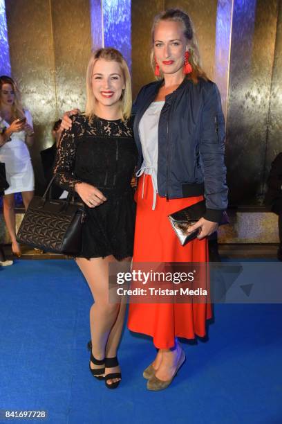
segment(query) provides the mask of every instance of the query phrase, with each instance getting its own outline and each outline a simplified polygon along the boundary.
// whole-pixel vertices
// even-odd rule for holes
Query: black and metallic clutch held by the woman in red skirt
[[[168,215],[171,227],[176,232],[176,236],[178,236],[182,246],[185,246],[187,242],[194,240],[194,238],[198,236],[198,229],[191,233],[188,233],[188,229],[205,215],[205,211],[205,200],[201,200],[201,202],[192,204],[191,206],[187,206],[187,208],[180,209],[180,211]],[[219,222],[219,225],[223,224],[229,224],[229,219],[225,211]]]

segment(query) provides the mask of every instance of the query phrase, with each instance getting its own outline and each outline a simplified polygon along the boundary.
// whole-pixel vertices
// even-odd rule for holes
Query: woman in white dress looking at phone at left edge
[[[15,81],[0,76],[0,161],[6,166],[9,188],[3,196],[3,214],[12,240],[12,252],[21,256],[15,231],[15,193],[21,193],[27,209],[35,187],[34,174],[28,147],[34,132],[32,117],[21,105]]]

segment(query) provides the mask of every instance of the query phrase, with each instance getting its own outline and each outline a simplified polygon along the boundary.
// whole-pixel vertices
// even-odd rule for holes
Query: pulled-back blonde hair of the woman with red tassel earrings
[[[196,37],[196,33],[194,30],[194,25],[190,19],[190,17],[187,15],[187,13],[183,12],[183,10],[180,9],[167,9],[164,10],[164,12],[161,12],[159,15],[156,15],[156,17],[153,20],[153,26],[151,29],[151,54],[150,54],[150,60],[151,60],[151,67],[153,71],[155,70],[155,56],[153,53],[153,43],[154,43],[154,32],[156,25],[160,21],[174,21],[174,22],[180,22],[183,26],[184,35],[185,38],[189,41],[189,64],[191,64],[192,72],[189,73],[186,78],[193,80],[193,82],[197,83],[198,78],[203,78],[204,80],[207,80],[207,75],[205,74],[205,71],[203,71],[201,64],[200,64],[200,51],[198,47],[198,40]],[[184,58],[183,58],[184,63]],[[163,78],[162,71],[160,71],[160,76],[156,77],[157,80],[161,80]]]

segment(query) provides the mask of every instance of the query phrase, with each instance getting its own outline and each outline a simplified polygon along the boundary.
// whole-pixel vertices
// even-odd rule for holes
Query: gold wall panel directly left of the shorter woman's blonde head
[[[57,115],[86,101],[86,67],[91,54],[88,0],[52,0]]]

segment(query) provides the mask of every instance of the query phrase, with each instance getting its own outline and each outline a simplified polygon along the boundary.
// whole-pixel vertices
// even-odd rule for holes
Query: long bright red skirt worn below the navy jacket
[[[137,214],[133,263],[207,262],[207,240],[196,238],[181,246],[167,218],[170,213],[200,202],[203,196],[167,202],[166,198],[157,195],[156,208],[152,210],[153,185],[151,176],[144,174],[138,181],[135,200]],[[128,327],[136,333],[153,337],[157,348],[171,348],[175,344],[175,337],[204,337],[206,321],[210,318],[212,308],[209,303],[130,303]]]

